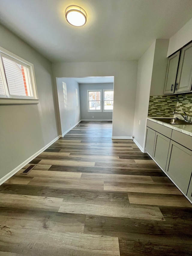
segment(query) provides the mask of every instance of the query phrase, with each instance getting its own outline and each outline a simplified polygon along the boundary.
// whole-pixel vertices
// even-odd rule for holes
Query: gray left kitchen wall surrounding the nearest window
[[[34,64],[39,104],[0,105],[0,178],[58,136],[52,65],[0,26],[0,46]]]

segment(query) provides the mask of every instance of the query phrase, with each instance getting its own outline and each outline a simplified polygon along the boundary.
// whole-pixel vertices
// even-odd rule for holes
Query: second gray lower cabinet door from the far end
[[[167,155],[169,152],[170,139],[156,132],[155,144],[153,149],[153,159],[165,171],[167,163]]]

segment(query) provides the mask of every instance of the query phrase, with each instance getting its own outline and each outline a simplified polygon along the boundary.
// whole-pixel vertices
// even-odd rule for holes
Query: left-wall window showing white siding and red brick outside
[[[6,52],[0,50],[0,103],[2,98],[3,103],[5,98],[38,99],[33,65]]]

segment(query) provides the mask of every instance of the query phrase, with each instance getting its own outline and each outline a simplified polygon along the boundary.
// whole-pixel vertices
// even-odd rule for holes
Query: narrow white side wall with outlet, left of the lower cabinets
[[[136,143],[143,149],[146,118],[148,116],[149,94],[152,79],[155,42],[140,57],[137,71],[137,92],[135,102],[134,136]],[[139,125],[140,120],[140,125]]]

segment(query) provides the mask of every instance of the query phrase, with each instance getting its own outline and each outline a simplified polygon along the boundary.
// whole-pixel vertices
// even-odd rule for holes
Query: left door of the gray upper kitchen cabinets
[[[179,56],[180,51],[168,58],[164,94],[173,94],[175,92]]]

